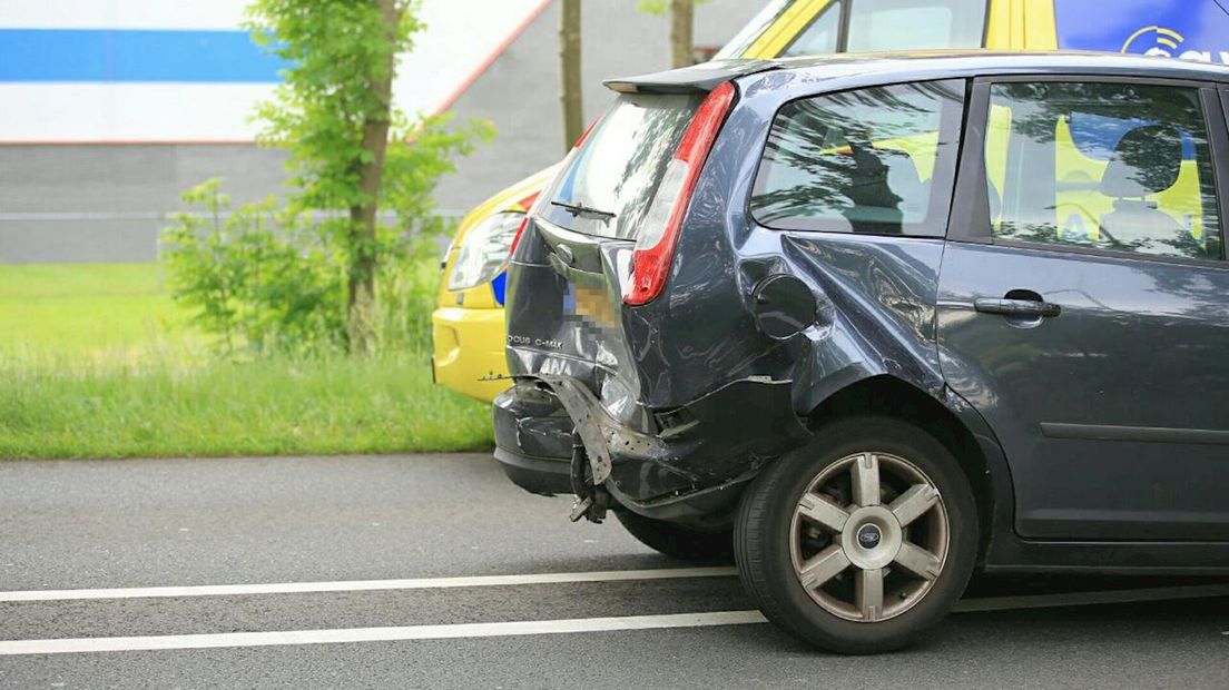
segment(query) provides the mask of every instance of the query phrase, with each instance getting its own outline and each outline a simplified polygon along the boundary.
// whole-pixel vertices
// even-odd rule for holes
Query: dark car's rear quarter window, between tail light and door
[[[751,214],[778,230],[943,236],[964,81],[794,101],[777,113]]]

